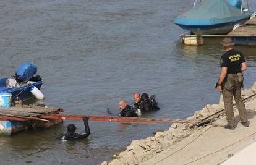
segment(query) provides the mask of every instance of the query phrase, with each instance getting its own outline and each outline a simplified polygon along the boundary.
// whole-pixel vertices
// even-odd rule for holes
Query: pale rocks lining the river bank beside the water
[[[242,98],[247,98],[249,96],[256,94],[256,82],[249,88],[242,90]],[[247,111],[248,109],[255,111],[256,108],[253,105],[245,104]],[[207,117],[214,112],[220,111],[224,108],[223,96],[221,95],[219,104],[206,105],[203,109],[195,111],[194,116],[188,117],[187,119],[202,119]],[[226,124],[225,117],[220,117],[215,119],[215,121],[209,123],[213,126],[223,126]],[[127,146],[126,150],[121,152],[119,155],[114,154],[113,160],[110,162],[103,161],[101,165],[119,165],[119,164],[141,164],[149,159],[157,156],[163,151],[167,150],[173,145],[182,142],[186,137],[193,135],[194,133],[200,132],[200,130],[205,129],[204,126],[200,127],[189,127],[189,124],[177,124],[171,125],[169,130],[164,132],[156,132],[155,136],[147,137],[141,140],[133,140],[132,143]]]

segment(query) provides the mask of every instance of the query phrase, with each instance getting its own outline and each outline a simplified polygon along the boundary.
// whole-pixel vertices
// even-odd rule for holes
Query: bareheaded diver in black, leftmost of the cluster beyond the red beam
[[[118,106],[121,110],[119,116],[121,117],[138,117],[135,110],[130,107],[124,99],[119,101]]]

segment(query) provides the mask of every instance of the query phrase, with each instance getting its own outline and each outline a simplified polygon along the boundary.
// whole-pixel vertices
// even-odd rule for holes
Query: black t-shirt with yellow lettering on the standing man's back
[[[228,67],[228,74],[241,73],[241,64],[245,62],[240,51],[231,49],[221,56],[221,67]]]

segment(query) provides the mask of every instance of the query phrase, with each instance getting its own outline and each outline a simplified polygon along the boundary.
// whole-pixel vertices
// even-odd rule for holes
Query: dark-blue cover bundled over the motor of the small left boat
[[[27,82],[33,75],[36,74],[37,67],[32,62],[23,62],[23,64],[16,69],[16,77],[22,82]]]

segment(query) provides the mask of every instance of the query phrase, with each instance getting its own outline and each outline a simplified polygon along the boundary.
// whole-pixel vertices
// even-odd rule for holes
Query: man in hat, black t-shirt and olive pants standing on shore
[[[221,56],[221,73],[216,87],[218,91],[222,92],[224,99],[224,107],[226,109],[226,116],[228,125],[226,129],[234,129],[235,118],[233,109],[233,96],[236,101],[239,116],[244,127],[249,127],[247,112],[241,96],[241,87],[243,85],[242,72],[247,69],[244,56],[241,52],[232,48],[235,44],[231,38],[224,38],[221,42],[226,53]]]

